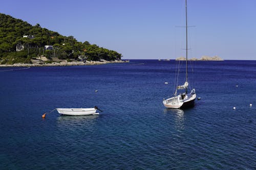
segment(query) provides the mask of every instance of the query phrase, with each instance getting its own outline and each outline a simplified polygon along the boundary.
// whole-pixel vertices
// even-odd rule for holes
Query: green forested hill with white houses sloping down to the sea
[[[30,63],[31,59],[38,56],[71,60],[78,60],[82,56],[93,61],[121,59],[121,54],[115,51],[88,41],[78,42],[73,36],[62,36],[41,28],[38,23],[32,26],[26,21],[0,13],[0,63]]]

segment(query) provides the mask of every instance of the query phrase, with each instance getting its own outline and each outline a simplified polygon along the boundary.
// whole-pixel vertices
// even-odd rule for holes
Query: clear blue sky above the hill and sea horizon
[[[187,0],[188,58],[256,60],[255,0]],[[2,1],[0,13],[122,54],[185,56],[185,0]]]

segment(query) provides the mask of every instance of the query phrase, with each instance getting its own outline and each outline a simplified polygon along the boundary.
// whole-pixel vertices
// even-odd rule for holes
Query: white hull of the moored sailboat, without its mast
[[[183,99],[181,99],[182,95],[185,95]],[[177,96],[174,96],[173,98],[163,100],[163,105],[167,108],[173,109],[193,107],[196,97],[197,95],[195,93],[179,94]]]

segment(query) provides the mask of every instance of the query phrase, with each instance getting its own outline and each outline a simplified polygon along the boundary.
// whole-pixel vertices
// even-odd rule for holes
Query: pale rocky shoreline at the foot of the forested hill
[[[100,65],[100,64],[109,64],[109,63],[126,63],[129,60],[114,60],[114,61],[71,61],[67,62],[66,60],[63,61],[55,61],[52,63],[15,63],[15,64],[0,64],[0,67],[37,67],[37,66],[71,66],[71,65]]]

